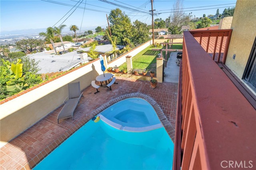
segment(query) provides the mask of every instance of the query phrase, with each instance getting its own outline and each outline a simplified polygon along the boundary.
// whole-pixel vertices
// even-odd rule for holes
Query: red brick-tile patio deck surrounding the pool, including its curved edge
[[[152,104],[166,131],[172,139],[174,138],[178,84],[158,83],[157,88],[153,90],[149,88],[148,81],[117,78],[116,82],[118,84],[112,85],[112,91],[101,87],[100,92],[94,94],[96,89],[92,86],[84,89],[84,98],[81,98],[76,108],[74,119],[62,119],[60,124],[57,123],[57,115],[62,105],[14,138],[0,149],[0,169],[33,168],[94,115],[129,97],[144,98]]]

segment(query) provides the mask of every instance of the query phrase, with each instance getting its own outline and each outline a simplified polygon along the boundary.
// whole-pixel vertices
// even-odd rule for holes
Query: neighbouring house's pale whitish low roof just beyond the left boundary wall
[[[28,56],[39,62],[38,67],[40,70],[37,72],[38,74],[70,70],[82,63],[88,63],[91,59],[87,53],[78,54],[77,51],[63,55],[51,55],[41,52]]]

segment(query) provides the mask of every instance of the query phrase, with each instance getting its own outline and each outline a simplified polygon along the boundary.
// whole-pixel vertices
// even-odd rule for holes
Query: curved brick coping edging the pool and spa
[[[160,108],[160,106],[156,103],[154,99],[152,99],[150,96],[142,94],[142,93],[131,93],[131,94],[125,94],[122,96],[119,96],[117,98],[114,98],[110,100],[109,102],[103,104],[102,106],[98,107],[96,110],[92,111],[91,113],[85,115],[78,123],[74,126],[72,126],[68,131],[66,131],[63,135],[61,135],[58,139],[50,143],[44,150],[42,150],[39,154],[37,154],[32,160],[30,160],[25,166],[25,169],[32,169],[37,164],[39,164],[48,154],[50,154],[54,149],[56,149],[58,146],[60,146],[68,137],[70,137],[73,133],[75,133],[80,127],[85,125],[88,121],[92,119],[92,117],[95,117],[100,112],[102,112],[104,109],[112,106],[113,104],[116,104],[117,102],[120,102],[121,100],[127,99],[127,98],[141,98],[146,100],[156,111],[156,114],[158,115],[158,118],[160,119],[160,122],[162,123],[163,127],[165,128],[166,132],[168,133],[169,137],[171,138],[172,142],[174,143],[175,139],[175,129],[172,127],[171,123],[168,121],[166,116],[164,115],[164,112]]]

